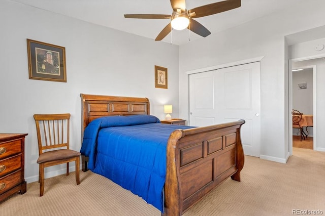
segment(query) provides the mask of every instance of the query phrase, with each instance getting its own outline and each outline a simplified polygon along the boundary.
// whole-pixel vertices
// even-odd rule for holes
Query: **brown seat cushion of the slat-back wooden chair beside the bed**
[[[81,155],[80,152],[71,149],[58,149],[42,153],[37,159],[37,163],[45,163],[54,160],[68,159]]]

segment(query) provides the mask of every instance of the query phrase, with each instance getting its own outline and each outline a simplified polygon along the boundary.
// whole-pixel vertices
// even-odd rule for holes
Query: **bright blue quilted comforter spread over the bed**
[[[110,116],[91,121],[80,152],[88,168],[164,211],[166,147],[175,129],[152,115]]]

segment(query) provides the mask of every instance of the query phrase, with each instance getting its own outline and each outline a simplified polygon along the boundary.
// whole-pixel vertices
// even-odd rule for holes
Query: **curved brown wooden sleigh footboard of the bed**
[[[220,183],[240,181],[244,120],[174,131],[167,145],[165,213],[181,215]]]

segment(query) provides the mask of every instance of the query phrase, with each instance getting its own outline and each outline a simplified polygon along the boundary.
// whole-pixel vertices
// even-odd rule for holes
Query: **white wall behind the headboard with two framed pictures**
[[[25,179],[38,180],[35,113],[71,113],[71,148],[81,145],[80,93],[147,97],[151,114],[178,116],[178,47],[7,0],[0,1],[0,133],[28,133]],[[67,82],[28,79],[26,38],[66,48]],[[154,87],[154,65],[168,68],[168,89]],[[64,173],[46,168],[46,177]],[[74,167],[72,167],[74,170]]]

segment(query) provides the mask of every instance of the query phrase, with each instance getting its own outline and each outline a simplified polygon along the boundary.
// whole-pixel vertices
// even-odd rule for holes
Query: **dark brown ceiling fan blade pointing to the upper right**
[[[190,15],[191,18],[205,17],[212,14],[221,13],[224,11],[229,11],[241,6],[241,0],[226,0],[222,2],[212,3],[209,5],[204,5],[198,8],[193,8],[188,10],[188,14],[195,12],[195,14]]]

